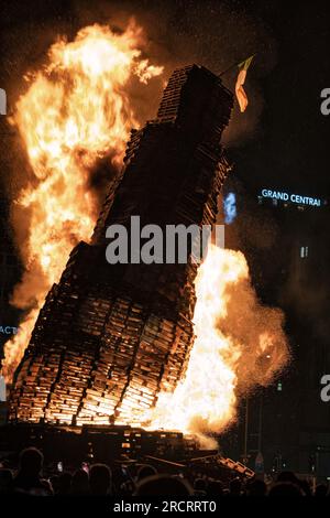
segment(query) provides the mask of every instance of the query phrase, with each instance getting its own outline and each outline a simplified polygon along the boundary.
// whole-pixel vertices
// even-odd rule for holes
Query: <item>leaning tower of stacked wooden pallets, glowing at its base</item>
[[[11,421],[136,425],[183,378],[197,266],[109,265],[106,229],[121,224],[130,234],[136,215],[141,227],[213,224],[231,107],[219,77],[193,65],[174,72],[157,118],[132,131],[91,244],[73,250],[40,312],[15,373]]]

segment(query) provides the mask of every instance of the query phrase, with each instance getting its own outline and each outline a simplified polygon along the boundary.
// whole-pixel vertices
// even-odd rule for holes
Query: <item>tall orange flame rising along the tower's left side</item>
[[[12,122],[25,145],[33,179],[14,209],[15,219],[21,226],[28,219],[29,228],[28,239],[19,242],[25,273],[12,303],[28,313],[6,346],[7,380],[70,250],[90,238],[98,209],[88,188],[91,168],[108,155],[120,165],[130,129],[139,127],[127,94],[130,79],[135,75],[146,83],[163,71],[141,58],[142,40],[133,21],[121,34],[108,26],[86,26],[74,42],[62,39],[52,45],[47,66],[26,76],[30,86]]]

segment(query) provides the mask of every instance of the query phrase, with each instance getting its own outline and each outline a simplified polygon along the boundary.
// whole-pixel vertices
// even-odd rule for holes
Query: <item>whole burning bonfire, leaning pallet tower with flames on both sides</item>
[[[228,427],[235,418],[238,397],[254,385],[266,385],[286,361],[282,315],[258,304],[240,252],[211,247],[199,268],[194,316],[197,337],[189,361],[196,267],[164,267],[162,271],[160,267],[158,271],[147,265],[134,273],[128,270],[123,280],[129,279],[136,289],[132,293],[142,287],[139,301],[131,292],[116,291],[117,284],[107,276],[94,284],[90,272],[81,278],[76,274],[81,257],[86,268],[97,257],[106,224],[121,220],[125,207],[128,214],[131,207],[139,208],[136,193],[130,188],[130,182],[134,188],[139,183],[133,174],[136,170],[145,175],[142,185],[158,174],[158,183],[152,183],[154,199],[163,199],[158,188],[163,181],[165,186],[166,181],[178,185],[180,179],[177,198],[173,199],[173,185],[167,193],[175,223],[215,223],[217,194],[228,172],[220,137],[228,123],[231,94],[206,69],[191,66],[174,73],[158,118],[131,136],[125,158],[129,174],[123,176],[122,192],[119,188],[121,204],[113,208],[111,198],[107,208],[106,203],[92,246],[78,246],[65,269],[73,247],[88,241],[95,226],[98,204],[89,187],[90,172],[106,157],[119,166],[129,131],[138,126],[128,97],[129,82],[135,75],[145,83],[162,73],[161,67],[141,58],[141,39],[134,24],[122,34],[98,25],[82,29],[74,42],[59,41],[51,47],[50,65],[32,77],[18,102],[13,122],[34,177],[16,205],[16,214],[28,214],[30,225],[21,250],[25,273],[13,303],[28,313],[20,333],[6,347],[8,379],[22,358],[37,315],[38,321],[13,390],[13,420],[95,424],[113,422],[114,416],[119,418],[116,422],[122,419],[205,435]],[[150,162],[153,169],[148,171]],[[157,199],[154,204],[152,214],[160,205]],[[98,266],[96,262],[96,271],[102,271]],[[146,273],[156,287],[152,301],[147,292],[143,294]],[[73,322],[68,314],[75,315]],[[63,334],[56,328],[58,322],[63,322]],[[37,397],[32,396],[35,393]]]

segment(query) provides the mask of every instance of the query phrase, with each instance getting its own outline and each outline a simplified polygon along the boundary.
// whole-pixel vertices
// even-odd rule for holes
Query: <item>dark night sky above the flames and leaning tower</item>
[[[190,62],[219,73],[255,52],[250,106],[244,116],[234,112],[231,130],[239,128],[235,173],[252,191],[266,185],[327,197],[330,116],[320,112],[320,91],[330,87],[328,11],[322,1],[2,0],[1,82],[13,102],[22,75],[42,63],[58,33],[72,37],[87,23],[117,23],[132,14],[165,74]],[[223,77],[230,88],[234,76]]]

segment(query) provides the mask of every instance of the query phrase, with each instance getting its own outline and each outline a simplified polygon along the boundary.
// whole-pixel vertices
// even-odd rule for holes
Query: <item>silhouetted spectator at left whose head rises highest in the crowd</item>
[[[31,495],[52,495],[51,484],[41,478],[43,463],[44,456],[36,447],[23,450],[20,455],[20,470],[13,479],[13,490]]]

